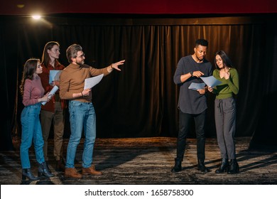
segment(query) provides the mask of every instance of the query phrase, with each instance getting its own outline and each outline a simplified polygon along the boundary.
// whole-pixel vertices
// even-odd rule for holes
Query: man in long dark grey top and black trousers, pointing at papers
[[[180,86],[178,100],[179,132],[177,141],[177,156],[175,166],[171,171],[182,171],[182,161],[185,153],[185,141],[190,129],[190,120],[195,120],[195,133],[197,136],[197,169],[202,172],[210,172],[205,166],[205,119],[207,109],[206,90],[190,90],[192,82],[202,83],[201,76],[212,75],[212,64],[205,59],[208,41],[198,39],[195,42],[195,53],[181,58],[178,62],[173,80]]]

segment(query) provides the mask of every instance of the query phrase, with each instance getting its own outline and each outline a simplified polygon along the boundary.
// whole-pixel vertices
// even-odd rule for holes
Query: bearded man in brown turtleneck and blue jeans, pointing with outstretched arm
[[[114,69],[119,70],[125,60],[112,63],[106,68],[97,69],[85,64],[85,53],[77,44],[70,45],[66,50],[70,65],[60,74],[60,98],[69,100],[70,140],[67,145],[65,177],[82,178],[82,175],[102,175],[92,165],[92,154],[96,137],[96,118],[92,104],[91,88],[84,90],[85,79],[96,75],[109,75]],[[84,127],[85,142],[82,154],[82,175],[74,166],[77,146],[82,138]]]

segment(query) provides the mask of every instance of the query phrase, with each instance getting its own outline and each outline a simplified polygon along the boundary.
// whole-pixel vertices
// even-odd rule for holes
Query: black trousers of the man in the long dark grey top
[[[197,137],[197,158],[205,160],[205,119],[206,111],[200,114],[179,113],[179,133],[177,141],[177,160],[183,161],[185,144],[190,131],[191,119],[195,120],[195,133]]]

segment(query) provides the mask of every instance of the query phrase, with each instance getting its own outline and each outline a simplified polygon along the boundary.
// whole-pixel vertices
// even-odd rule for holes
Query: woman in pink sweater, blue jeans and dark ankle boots
[[[40,126],[40,102],[48,102],[48,93],[43,95],[44,89],[40,82],[38,74],[43,72],[40,60],[29,59],[26,61],[23,69],[20,91],[23,96],[24,109],[21,112],[21,146],[20,157],[22,166],[22,180],[28,178],[30,181],[36,181],[38,178],[33,176],[31,172],[31,164],[29,159],[29,148],[34,144],[36,152],[36,160],[39,163],[38,177],[45,176],[47,178],[54,175],[48,170],[48,166],[43,156],[43,134]]]

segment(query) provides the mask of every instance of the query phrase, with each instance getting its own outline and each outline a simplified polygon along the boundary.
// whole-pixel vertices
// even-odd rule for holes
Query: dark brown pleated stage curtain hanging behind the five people
[[[210,42],[207,59],[225,50],[240,77],[237,99],[237,134],[252,136],[276,119],[276,15],[252,16],[141,16],[60,14],[31,21],[23,16],[1,16],[1,90],[6,106],[1,112],[8,146],[20,136],[18,96],[23,64],[41,58],[48,41],[60,43],[60,62],[67,65],[65,50],[80,43],[85,62],[104,68],[125,59],[121,72],[112,72],[93,88],[98,137],[176,136],[178,86],[173,75],[178,60],[193,53],[197,38]],[[214,137],[214,96],[208,97],[207,136]],[[274,121],[274,120],[273,120]],[[70,134],[68,114],[65,136]],[[265,134],[263,132],[263,134]],[[191,136],[194,136],[193,131]],[[2,139],[3,137],[3,139]],[[273,140],[276,136],[273,136]]]

